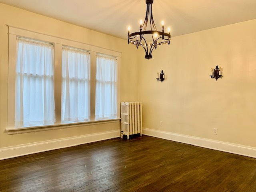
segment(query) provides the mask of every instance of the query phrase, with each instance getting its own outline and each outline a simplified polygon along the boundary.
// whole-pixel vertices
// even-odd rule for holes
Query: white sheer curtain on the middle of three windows
[[[62,47],[61,121],[90,119],[90,54]]]

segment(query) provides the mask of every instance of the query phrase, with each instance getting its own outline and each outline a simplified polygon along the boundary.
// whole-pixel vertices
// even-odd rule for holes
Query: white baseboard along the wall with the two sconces
[[[176,134],[171,132],[164,132],[148,128],[142,128],[142,134],[162,138],[166,140],[191,144],[194,146],[234,153],[238,155],[256,158],[256,148],[244,146],[234,143],[221,142],[217,140],[205,139],[200,137],[193,137],[188,135]]]

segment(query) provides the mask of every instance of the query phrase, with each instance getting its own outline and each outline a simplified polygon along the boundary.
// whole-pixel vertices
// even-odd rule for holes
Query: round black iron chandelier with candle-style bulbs
[[[135,44],[136,48],[138,46],[142,46],[146,52],[145,59],[152,58],[152,51],[154,48],[156,49],[158,45],[166,44],[170,45],[171,35],[170,35],[170,28],[168,28],[168,33],[164,32],[164,21],[162,21],[162,31],[157,31],[156,25],[154,23],[153,14],[152,14],[152,4],[154,0],[146,0],[147,10],[146,10],[146,17],[144,23],[142,25],[142,20],[140,20],[140,32],[134,32],[130,34],[130,26],[128,27],[128,44]],[[148,25],[148,17],[150,21],[150,30],[146,30]],[[144,31],[142,28],[144,27]],[[150,41],[152,42],[147,43],[144,35],[149,34]],[[146,37],[146,36],[145,36]],[[147,38],[148,40],[148,38]]]

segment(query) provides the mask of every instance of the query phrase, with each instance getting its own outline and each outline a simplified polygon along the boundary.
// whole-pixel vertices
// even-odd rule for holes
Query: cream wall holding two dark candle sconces
[[[255,34],[250,20],[174,37],[152,60],[141,55],[143,127],[256,147]],[[217,81],[209,76],[216,65],[223,68]]]

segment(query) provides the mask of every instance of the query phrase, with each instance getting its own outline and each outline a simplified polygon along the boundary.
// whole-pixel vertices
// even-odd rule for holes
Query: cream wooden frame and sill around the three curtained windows
[[[53,130],[61,128],[70,128],[77,126],[87,126],[92,124],[101,124],[120,121],[120,107],[118,107],[118,117],[115,119],[95,120],[95,87],[96,87],[96,54],[105,54],[117,58],[117,73],[118,73],[118,99],[117,106],[120,103],[120,66],[121,52],[109,50],[90,44],[60,38],[48,34],[34,32],[14,26],[9,26],[9,47],[8,47],[8,122],[6,131],[8,134],[19,134],[26,132],[36,132],[42,130]],[[28,38],[38,40],[54,45],[54,99],[55,99],[55,116],[56,122],[52,125],[30,126],[16,128],[14,126],[15,114],[15,68],[16,68],[16,38]],[[90,52],[90,120],[86,122],[61,123],[61,88],[62,88],[62,46],[68,46],[75,49],[86,50]]]

